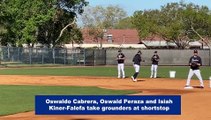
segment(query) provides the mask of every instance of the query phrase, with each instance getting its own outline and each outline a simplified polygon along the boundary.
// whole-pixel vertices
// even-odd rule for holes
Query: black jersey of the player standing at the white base
[[[190,58],[189,60],[189,65],[190,65],[190,68],[192,70],[198,70],[199,69],[199,65],[197,65],[197,63],[199,63],[200,65],[202,65],[202,61],[201,61],[201,58],[197,55],[194,55]]]

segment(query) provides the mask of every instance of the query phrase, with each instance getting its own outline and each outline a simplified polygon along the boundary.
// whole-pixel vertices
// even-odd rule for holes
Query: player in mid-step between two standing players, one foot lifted
[[[134,82],[136,82],[137,80],[136,80],[136,78],[137,78],[137,76],[138,76],[138,74],[139,74],[139,70],[140,70],[140,65],[141,65],[141,61],[142,61],[142,59],[141,59],[141,51],[139,50],[138,52],[137,52],[137,54],[133,57],[133,66],[134,66],[134,68],[135,68],[135,73],[134,73],[134,75],[133,76],[131,76],[131,79],[134,81]]]

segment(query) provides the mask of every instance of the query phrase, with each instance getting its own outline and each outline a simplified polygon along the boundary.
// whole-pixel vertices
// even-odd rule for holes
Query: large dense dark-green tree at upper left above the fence
[[[71,29],[65,30],[56,41],[60,31],[81,14],[87,4],[85,0],[2,0],[0,21],[7,33],[1,44],[62,44]]]

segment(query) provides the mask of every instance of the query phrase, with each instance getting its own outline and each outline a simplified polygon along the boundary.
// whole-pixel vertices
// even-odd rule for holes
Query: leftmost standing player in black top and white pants
[[[118,78],[121,77],[125,78],[124,61],[125,61],[125,55],[122,53],[122,50],[118,50],[118,55],[117,55]]]

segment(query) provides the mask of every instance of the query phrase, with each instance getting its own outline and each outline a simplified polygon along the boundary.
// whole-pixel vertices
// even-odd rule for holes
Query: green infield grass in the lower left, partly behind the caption
[[[124,95],[130,90],[77,86],[0,85],[0,116],[34,110],[35,95]]]

